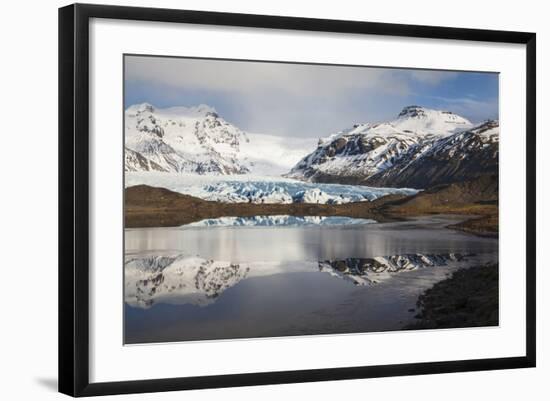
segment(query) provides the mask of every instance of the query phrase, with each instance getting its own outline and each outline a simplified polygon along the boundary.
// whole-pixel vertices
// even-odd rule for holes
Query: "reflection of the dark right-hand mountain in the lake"
[[[467,255],[473,256],[473,255]],[[445,254],[406,254],[379,256],[375,258],[348,258],[319,262],[319,270],[355,285],[372,285],[390,278],[393,274],[416,270],[421,267],[446,266],[450,262],[462,262],[465,255]]]

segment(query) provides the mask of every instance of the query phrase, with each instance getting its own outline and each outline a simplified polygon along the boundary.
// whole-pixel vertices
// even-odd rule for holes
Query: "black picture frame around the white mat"
[[[526,354],[495,359],[90,383],[88,28],[91,18],[524,44],[527,54]],[[87,4],[60,8],[59,391],[71,396],[95,396],[534,367],[535,121],[535,33]]]

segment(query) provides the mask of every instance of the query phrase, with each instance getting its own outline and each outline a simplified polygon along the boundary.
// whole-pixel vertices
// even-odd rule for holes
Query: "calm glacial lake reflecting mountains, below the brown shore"
[[[263,216],[127,229],[125,343],[400,330],[434,283],[498,262],[497,239],[446,228],[464,219]]]

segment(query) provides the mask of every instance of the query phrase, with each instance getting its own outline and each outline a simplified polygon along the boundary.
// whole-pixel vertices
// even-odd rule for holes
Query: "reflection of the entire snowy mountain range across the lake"
[[[250,277],[292,272],[327,272],[355,285],[374,285],[392,275],[422,267],[446,266],[465,256],[407,254],[316,262],[236,264],[189,256],[129,258],[124,268],[125,302],[139,308],[155,303],[206,306],[228,288]]]

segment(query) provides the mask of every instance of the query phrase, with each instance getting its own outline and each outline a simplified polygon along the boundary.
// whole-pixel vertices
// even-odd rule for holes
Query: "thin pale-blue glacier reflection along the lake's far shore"
[[[186,227],[270,227],[270,226],[340,226],[376,223],[371,219],[356,219],[344,216],[252,216],[252,217],[221,217],[205,219],[196,223],[186,224]]]

